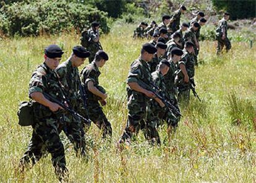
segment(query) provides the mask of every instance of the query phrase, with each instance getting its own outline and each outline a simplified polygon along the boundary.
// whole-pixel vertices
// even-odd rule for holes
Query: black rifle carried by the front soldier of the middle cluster
[[[158,87],[155,88],[156,90],[154,90],[150,85],[147,85],[146,83],[142,82],[141,80],[138,80],[138,83],[141,87],[152,91],[156,95],[156,97],[159,98],[164,103],[164,105],[169,109],[169,111],[171,111],[172,113],[175,114],[175,116],[182,116],[181,113],[179,112],[179,109],[177,109],[170,101],[166,100],[166,98],[164,98],[162,93],[160,93],[159,91],[156,91],[156,90],[158,90]],[[153,84],[153,83],[150,83],[150,84]],[[155,85],[155,84],[153,84],[153,85]]]

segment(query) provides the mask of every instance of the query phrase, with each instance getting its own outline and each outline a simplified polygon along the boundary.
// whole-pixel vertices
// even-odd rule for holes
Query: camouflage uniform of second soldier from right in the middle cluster
[[[176,77],[176,71],[177,71],[177,66],[174,64],[171,59],[169,60],[171,66],[166,75],[164,75],[164,83],[166,85],[166,90],[168,92],[168,100],[171,101],[171,103],[179,110],[179,106],[177,103],[177,98],[176,98],[176,86],[175,86],[175,77]],[[170,117],[169,122],[171,126],[177,127],[177,124],[179,122],[180,117]]]

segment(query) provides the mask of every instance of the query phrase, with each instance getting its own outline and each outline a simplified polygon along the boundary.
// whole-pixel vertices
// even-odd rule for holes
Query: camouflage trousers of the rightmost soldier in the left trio
[[[96,126],[103,130],[103,138],[112,136],[111,123],[106,118],[98,101],[87,101],[87,111],[83,112],[83,116],[90,119]],[[89,128],[88,124],[83,124],[85,128]]]

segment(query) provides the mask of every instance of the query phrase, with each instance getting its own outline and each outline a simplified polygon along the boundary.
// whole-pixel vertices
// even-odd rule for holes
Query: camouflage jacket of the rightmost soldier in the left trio
[[[96,102],[100,100],[99,96],[94,95],[91,91],[88,90],[88,82],[92,81],[94,83],[94,86],[98,88],[101,92],[105,93],[105,90],[102,91],[99,85],[99,76],[100,76],[100,70],[96,66],[95,61],[88,64],[83,68],[83,70],[80,73],[80,79],[82,82],[82,86],[85,88],[85,92],[87,93],[87,103],[90,103],[90,101]]]

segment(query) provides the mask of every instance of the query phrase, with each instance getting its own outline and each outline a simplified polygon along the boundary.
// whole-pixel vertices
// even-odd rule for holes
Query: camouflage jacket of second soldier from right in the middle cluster
[[[173,61],[171,61],[171,59],[168,62],[170,62],[171,66],[168,73],[164,75],[164,83],[166,85],[168,93],[175,94],[175,77],[177,66],[176,64],[174,64]]]

